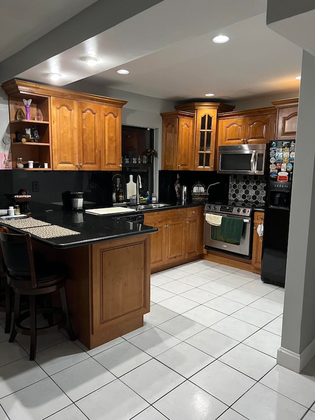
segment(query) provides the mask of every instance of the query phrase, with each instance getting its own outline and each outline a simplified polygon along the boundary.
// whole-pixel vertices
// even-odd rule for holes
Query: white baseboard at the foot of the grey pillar
[[[287,369],[300,373],[314,356],[315,339],[303,350],[301,354],[294,353],[284,347],[280,347],[277,352],[277,363]]]

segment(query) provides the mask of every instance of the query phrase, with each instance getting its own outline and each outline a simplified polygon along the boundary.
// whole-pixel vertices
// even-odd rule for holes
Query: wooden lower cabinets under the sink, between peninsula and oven
[[[151,235],[151,270],[154,272],[202,255],[203,207],[146,213],[144,223],[158,228],[158,232]]]

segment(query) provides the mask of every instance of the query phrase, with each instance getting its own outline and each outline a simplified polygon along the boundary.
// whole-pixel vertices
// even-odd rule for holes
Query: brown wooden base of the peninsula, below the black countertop
[[[143,326],[150,312],[150,235],[54,251],[69,267],[68,309],[82,344],[93,349]]]

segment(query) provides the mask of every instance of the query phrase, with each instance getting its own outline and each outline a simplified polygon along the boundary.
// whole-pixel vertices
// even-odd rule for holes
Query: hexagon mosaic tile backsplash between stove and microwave
[[[259,175],[230,175],[228,199],[233,205],[241,203],[264,205],[266,180]]]

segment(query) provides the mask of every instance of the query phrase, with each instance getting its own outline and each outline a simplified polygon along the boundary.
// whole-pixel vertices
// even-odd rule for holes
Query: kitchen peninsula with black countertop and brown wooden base
[[[68,268],[70,320],[81,343],[93,349],[143,325],[150,311],[149,234],[155,227],[58,209],[32,218],[79,232],[32,237],[35,251]]]

